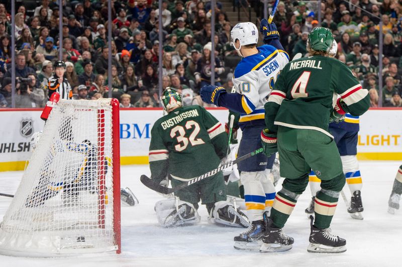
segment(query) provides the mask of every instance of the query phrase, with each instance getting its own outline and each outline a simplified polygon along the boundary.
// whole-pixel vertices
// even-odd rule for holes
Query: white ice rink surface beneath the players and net
[[[304,209],[309,187],[299,198],[284,232],[294,238],[293,248],[280,253],[259,253],[233,248],[233,237],[243,228],[208,223],[207,209],[198,210],[197,225],[166,229],[158,225],[154,204],[163,196],[141,184],[148,165],[122,166],[122,187],[128,186],[140,203],[122,207],[122,253],[100,253],[62,258],[23,258],[0,255],[0,266],[402,266],[402,209],[387,213],[387,201],[400,162],[362,161],[364,220],[352,219],[339,199],[331,228],[346,238],[341,254],[308,253],[310,220]],[[14,194],[22,172],[0,172],[0,192]],[[280,190],[280,183],[277,190]],[[350,192],[345,187],[348,198]],[[0,196],[0,218],[11,198]]]

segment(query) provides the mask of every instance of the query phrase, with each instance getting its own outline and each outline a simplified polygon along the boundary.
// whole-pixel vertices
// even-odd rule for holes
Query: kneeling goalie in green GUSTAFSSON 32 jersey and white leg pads
[[[225,128],[205,108],[182,106],[182,96],[167,87],[161,97],[167,114],[151,130],[149,167],[151,178],[163,186],[177,186],[218,167],[226,156]],[[172,227],[199,221],[198,202],[207,206],[210,221],[248,227],[247,216],[227,201],[222,172],[175,193],[175,198],[155,204],[158,221]]]

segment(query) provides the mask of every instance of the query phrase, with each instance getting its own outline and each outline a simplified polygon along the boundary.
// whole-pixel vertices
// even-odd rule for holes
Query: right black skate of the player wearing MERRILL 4
[[[310,244],[307,251],[312,253],[342,253],[346,251],[346,240],[331,233],[331,228],[320,229],[313,225],[314,217],[310,215]]]

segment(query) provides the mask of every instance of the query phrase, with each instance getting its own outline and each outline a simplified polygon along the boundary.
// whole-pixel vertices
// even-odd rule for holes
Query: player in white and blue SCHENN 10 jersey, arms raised
[[[253,23],[238,23],[231,31],[231,45],[243,58],[232,78],[236,93],[227,93],[225,88],[214,85],[203,86],[200,90],[204,102],[241,114],[239,127],[242,139],[238,157],[262,147],[260,134],[265,127],[264,104],[279,72],[289,62],[289,56],[279,42],[275,24],[268,24],[264,19],[260,31],[266,45],[258,48],[258,30]],[[270,210],[275,197],[275,187],[268,178],[274,160],[275,154],[268,158],[261,153],[238,164],[252,227],[234,238],[237,249],[260,248],[264,234],[263,213]]]

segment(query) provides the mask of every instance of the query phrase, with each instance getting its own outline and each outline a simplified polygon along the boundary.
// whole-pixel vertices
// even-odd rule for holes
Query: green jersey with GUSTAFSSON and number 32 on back
[[[149,166],[157,182],[168,174],[190,179],[218,167],[226,156],[225,127],[201,106],[180,107],[158,119],[151,130]]]

